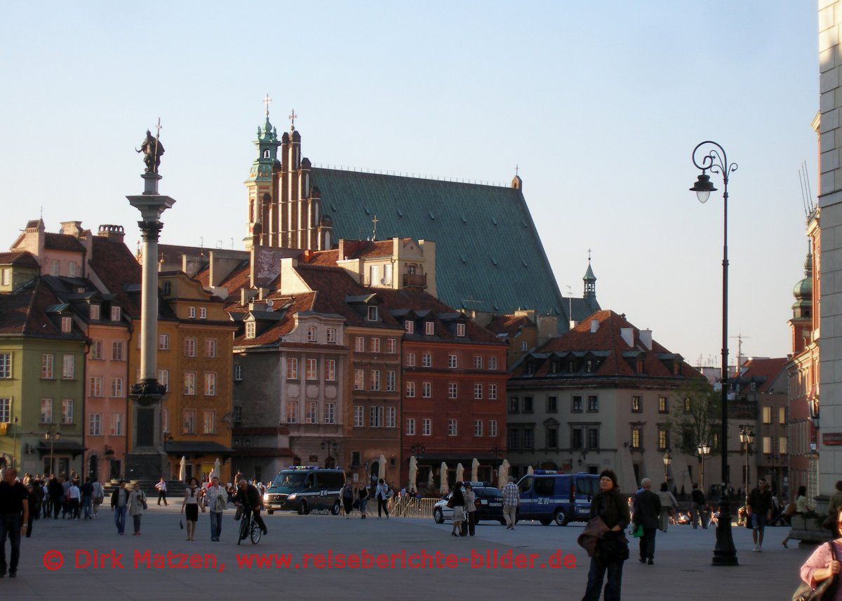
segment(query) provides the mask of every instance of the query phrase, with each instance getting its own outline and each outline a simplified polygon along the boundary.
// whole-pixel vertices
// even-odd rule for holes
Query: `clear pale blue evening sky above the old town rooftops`
[[[729,335],[791,350],[802,162],[818,194],[815,3],[3,3],[0,22],[0,246],[43,210],[48,231],[119,224],[134,247],[125,196],[160,117],[162,242],[242,248],[269,93],[314,164],[499,182],[519,166],[559,289],[581,295],[592,249],[600,305],[707,364],[722,196],[688,189],[714,140],[738,163]]]

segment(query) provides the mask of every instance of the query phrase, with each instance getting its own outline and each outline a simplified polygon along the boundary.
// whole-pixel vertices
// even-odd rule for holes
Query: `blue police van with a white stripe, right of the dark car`
[[[536,470],[518,482],[518,519],[537,519],[548,526],[555,522],[587,521],[591,499],[600,492],[600,476]]]

